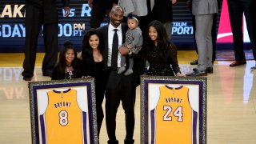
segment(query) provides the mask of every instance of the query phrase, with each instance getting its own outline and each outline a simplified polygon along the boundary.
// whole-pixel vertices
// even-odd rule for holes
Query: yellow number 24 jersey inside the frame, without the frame
[[[156,139],[158,144],[191,144],[192,109],[188,100],[188,88],[160,87],[156,106]]]

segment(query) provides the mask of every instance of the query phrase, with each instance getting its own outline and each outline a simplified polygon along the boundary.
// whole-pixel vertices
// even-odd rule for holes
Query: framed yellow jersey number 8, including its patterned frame
[[[33,144],[98,144],[94,78],[30,82]]]

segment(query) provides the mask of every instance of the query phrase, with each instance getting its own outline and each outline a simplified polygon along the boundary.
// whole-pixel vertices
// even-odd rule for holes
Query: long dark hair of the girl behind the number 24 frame
[[[150,26],[154,27],[158,32],[158,50],[160,50],[159,58],[163,62],[167,62],[168,57],[170,57],[170,41],[168,39],[166,29],[162,25],[162,22],[159,22],[157,20],[154,20],[150,22],[150,24],[146,28],[146,32],[144,35],[144,41],[143,41],[143,51],[142,51],[142,58],[146,59],[148,56],[152,54],[152,48],[155,46],[154,41],[149,36],[149,29]]]

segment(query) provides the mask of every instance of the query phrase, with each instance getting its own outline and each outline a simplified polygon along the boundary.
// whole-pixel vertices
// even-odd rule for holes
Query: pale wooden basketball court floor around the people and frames
[[[178,51],[182,73],[194,66],[194,51]],[[0,143],[30,144],[30,97],[28,82],[22,80],[24,54],[0,54]],[[43,54],[37,56],[34,81],[48,81],[42,76]],[[231,62],[231,61],[230,61]],[[207,78],[207,125],[209,144],[254,144],[256,143],[256,71],[250,71],[254,61],[230,68],[229,61],[214,62],[214,74]],[[134,140],[140,143],[140,90],[136,93]],[[103,107],[105,102],[103,102]],[[117,138],[123,143],[126,136],[124,111],[119,106]],[[99,141],[107,142],[105,119]]]

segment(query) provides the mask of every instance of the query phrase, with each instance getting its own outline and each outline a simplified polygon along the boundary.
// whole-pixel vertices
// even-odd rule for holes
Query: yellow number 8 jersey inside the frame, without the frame
[[[76,90],[49,91],[48,101],[45,113],[48,144],[82,144],[82,110],[78,107]]]

